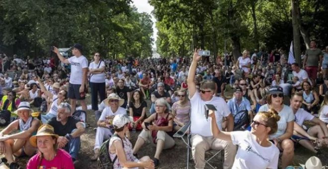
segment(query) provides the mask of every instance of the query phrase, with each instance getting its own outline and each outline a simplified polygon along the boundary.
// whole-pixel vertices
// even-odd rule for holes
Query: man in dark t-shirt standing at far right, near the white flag
[[[305,52],[305,59],[303,62],[303,68],[308,73],[312,86],[315,86],[318,70],[320,71],[323,63],[323,52],[317,48],[317,43],[315,40],[310,42],[310,49]]]

